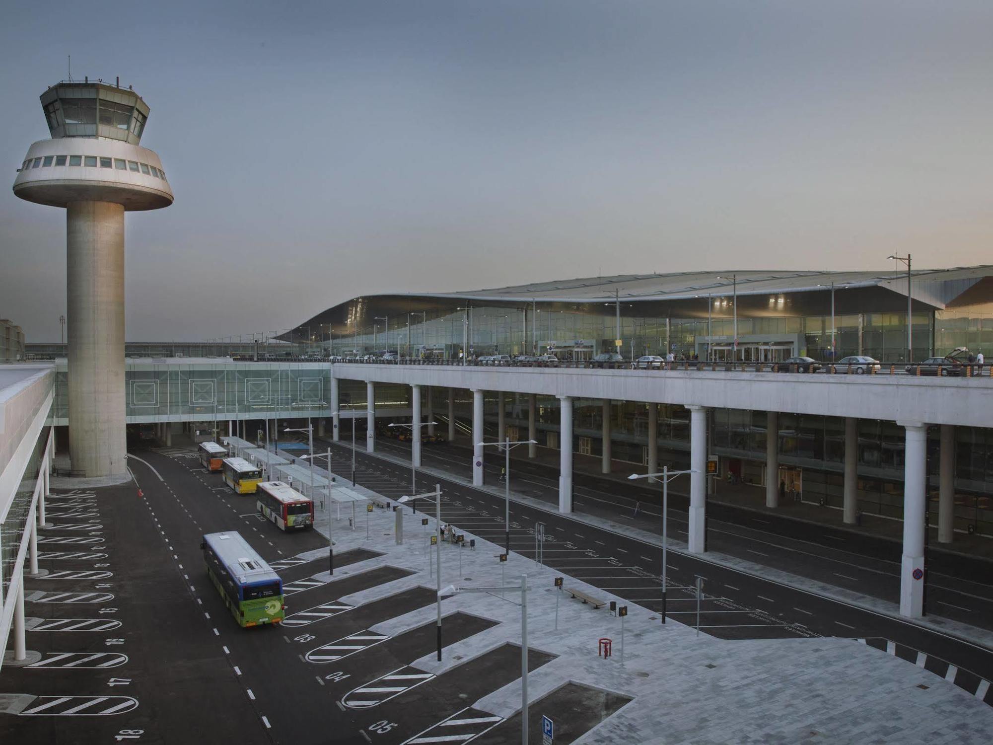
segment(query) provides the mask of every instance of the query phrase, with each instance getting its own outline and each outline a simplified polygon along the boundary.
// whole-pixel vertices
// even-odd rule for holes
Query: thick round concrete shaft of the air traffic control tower
[[[71,202],[66,211],[69,450],[87,477],[122,474],[124,207]]]

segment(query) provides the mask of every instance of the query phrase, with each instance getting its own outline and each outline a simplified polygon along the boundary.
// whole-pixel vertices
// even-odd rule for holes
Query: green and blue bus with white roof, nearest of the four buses
[[[283,581],[248,541],[233,530],[211,532],[200,547],[213,586],[239,626],[282,623]]]

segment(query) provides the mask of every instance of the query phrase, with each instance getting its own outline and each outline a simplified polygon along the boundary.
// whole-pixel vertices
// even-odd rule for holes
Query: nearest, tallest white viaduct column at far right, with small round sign
[[[924,581],[924,474],[927,427],[920,422],[897,422],[906,428],[904,451],[904,556],[900,575],[900,615],[921,618]],[[915,576],[918,572],[921,578]]]

